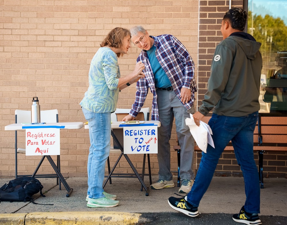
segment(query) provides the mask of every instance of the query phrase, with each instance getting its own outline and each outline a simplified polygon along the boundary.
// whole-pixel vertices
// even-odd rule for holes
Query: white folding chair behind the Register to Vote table
[[[117,108],[116,111],[111,114],[111,121],[112,122],[118,121],[117,118],[119,118],[119,114],[126,114],[127,115],[127,114],[129,114],[130,111],[131,111],[131,109],[118,109]],[[142,117],[142,114],[143,114],[144,118]],[[135,120],[149,120],[149,116],[150,116],[150,107],[141,108],[141,110],[139,111],[139,114],[137,115]],[[120,116],[120,117],[122,118],[123,116]],[[117,136],[119,143],[123,146],[123,129],[113,129],[113,133]],[[115,147],[117,147],[117,143],[115,142],[115,140],[113,140],[113,141],[114,141],[113,142],[114,146],[110,148],[110,153],[121,154],[121,150],[119,148],[115,148]],[[148,171],[149,171],[148,174],[145,174],[146,155],[148,155]],[[122,155],[119,156],[115,166],[119,162],[119,159],[121,158],[121,156]],[[110,170],[110,159],[109,159],[109,157],[108,157],[107,163],[108,163],[108,173],[110,174],[111,170]],[[144,180],[144,175],[149,175],[150,184],[152,184],[151,169],[150,169],[150,155],[149,154],[144,154],[143,168],[142,168],[142,180]],[[107,176],[105,176],[105,177],[107,177]],[[112,183],[111,177],[134,178],[135,176],[134,176],[134,174],[113,173],[113,175],[110,176],[110,178],[109,178],[110,184]],[[104,183],[103,187],[105,186],[106,182]],[[141,187],[141,191],[142,191],[142,187]]]

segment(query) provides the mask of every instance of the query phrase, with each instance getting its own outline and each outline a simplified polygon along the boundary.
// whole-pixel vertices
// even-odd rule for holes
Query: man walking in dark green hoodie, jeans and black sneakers
[[[229,9],[223,17],[223,41],[216,47],[208,80],[208,91],[198,112],[199,121],[213,109],[208,122],[213,132],[215,149],[208,145],[202,152],[199,170],[191,191],[183,198],[170,197],[173,209],[188,216],[198,216],[197,207],[212,180],[218,159],[229,141],[243,172],[246,201],[233,220],[244,224],[262,224],[259,220],[260,186],[253,155],[253,132],[258,118],[259,86],[262,57],[261,43],[242,32],[247,12],[240,8]]]

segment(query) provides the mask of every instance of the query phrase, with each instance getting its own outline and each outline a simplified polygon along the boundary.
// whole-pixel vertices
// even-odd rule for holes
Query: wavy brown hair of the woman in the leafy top
[[[127,36],[131,36],[131,32],[125,28],[116,27],[111,30],[104,38],[104,41],[100,44],[101,47],[108,46],[120,49],[123,46],[123,39]],[[117,56],[123,56],[123,53],[117,53]]]

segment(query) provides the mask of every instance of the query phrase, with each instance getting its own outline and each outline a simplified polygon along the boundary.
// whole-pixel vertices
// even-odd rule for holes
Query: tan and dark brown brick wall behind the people
[[[242,5],[243,0],[232,1],[232,6]],[[79,102],[88,88],[90,61],[104,36],[117,26],[142,25],[154,36],[175,35],[195,61],[200,105],[214,49],[222,40],[220,23],[228,6],[229,1],[202,0],[0,0],[0,176],[13,176],[15,169],[15,132],[4,131],[4,126],[14,123],[15,109],[30,110],[32,97],[39,98],[42,110],[58,109],[59,122],[85,121]],[[119,59],[121,76],[133,70],[139,52],[132,46]],[[130,108],[134,96],[132,84],[121,91],[117,107]],[[151,101],[149,93],[145,107],[150,107]],[[171,146],[175,140],[173,129]],[[24,132],[19,141],[19,147],[24,147]],[[89,145],[88,130],[61,130],[61,172],[65,177],[87,175]],[[265,156],[264,163],[274,174],[285,176],[286,154],[281,154],[270,155],[270,159]],[[117,157],[111,154],[112,165]],[[156,155],[150,157],[152,173],[157,174]],[[195,153],[194,169],[200,157]],[[130,158],[136,168],[142,167],[142,155]],[[39,157],[24,154],[18,154],[18,159],[19,174],[31,173],[39,161]],[[52,171],[48,161],[43,165],[41,172]],[[234,154],[224,153],[218,171],[237,173],[236,165]],[[173,149],[171,168],[177,171]],[[120,161],[117,172],[132,172],[125,159]]]

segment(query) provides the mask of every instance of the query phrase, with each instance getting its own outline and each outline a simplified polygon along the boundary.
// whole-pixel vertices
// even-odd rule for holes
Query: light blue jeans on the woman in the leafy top
[[[104,197],[102,188],[106,160],[110,154],[110,113],[94,113],[82,107],[89,122],[90,149],[88,156],[88,192],[90,198]]]

